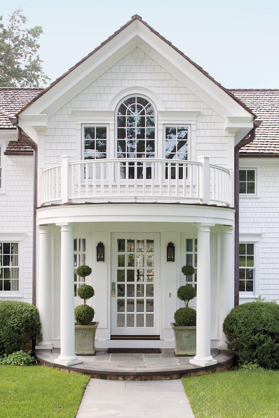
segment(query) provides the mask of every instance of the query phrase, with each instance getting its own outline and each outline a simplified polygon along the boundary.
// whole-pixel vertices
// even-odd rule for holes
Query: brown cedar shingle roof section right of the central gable
[[[279,90],[230,89],[262,120],[253,142],[240,149],[242,157],[252,155],[279,156]]]

